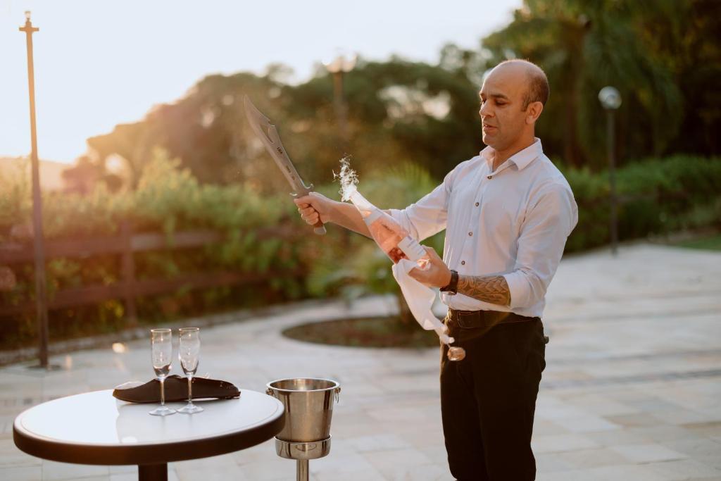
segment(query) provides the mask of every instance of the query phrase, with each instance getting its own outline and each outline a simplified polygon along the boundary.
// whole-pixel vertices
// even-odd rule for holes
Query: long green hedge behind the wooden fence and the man
[[[380,208],[402,208],[430,192],[435,180],[422,167],[401,163],[385,175],[361,172],[360,188]],[[567,242],[567,252],[606,244],[608,236],[609,181],[605,172],[566,168],[579,206],[579,224]],[[671,156],[647,159],[617,171],[623,203],[619,210],[622,239],[663,234],[679,229],[721,227],[721,159]],[[28,224],[29,190],[22,176],[4,179],[0,190],[1,242],[16,242],[13,227]],[[319,191],[338,198],[337,185]],[[141,322],[158,322],[178,316],[207,314],[239,306],[260,306],[291,299],[324,296],[354,298],[367,293],[399,294],[391,262],[370,240],[337,226],[325,237],[311,234],[298,219],[284,194],[265,195],[252,184],[227,186],[200,183],[177,159],[156,150],[138,178],[136,190],[110,193],[98,186],[89,195],[46,193],[44,230],[48,239],[77,239],[115,235],[123,221],[136,231],[163,231],[171,240],[187,229],[224,232],[226,242],[198,249],[138,252],[137,278],[171,278],[182,273],[235,270],[249,274],[280,273],[251,286],[226,286],[194,291],[179,290],[138,299]],[[257,229],[293,226],[292,238],[270,237],[259,242]],[[28,239],[25,239],[27,242]],[[443,233],[423,243],[441,252]],[[48,262],[50,295],[73,287],[107,285],[120,278],[117,256],[57,258]],[[0,302],[14,305],[32,299],[32,265],[12,265],[17,277],[13,291],[0,292]],[[297,272],[298,275],[291,275]],[[50,312],[53,339],[87,332],[117,330],[125,322],[121,300]],[[35,336],[32,314],[0,322],[1,345],[27,343]]]

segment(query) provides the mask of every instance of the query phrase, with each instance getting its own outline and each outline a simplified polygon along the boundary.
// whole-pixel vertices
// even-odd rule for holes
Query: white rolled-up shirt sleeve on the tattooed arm
[[[546,295],[577,222],[578,206],[569,187],[552,185],[539,195],[521,227],[514,270],[504,275],[511,309],[532,306]]]

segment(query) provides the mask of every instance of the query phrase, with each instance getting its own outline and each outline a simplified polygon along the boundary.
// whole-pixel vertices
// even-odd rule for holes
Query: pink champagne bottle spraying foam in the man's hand
[[[361,213],[373,240],[395,264],[401,259],[414,262],[428,259],[423,246],[413,239],[408,231],[387,213],[368,202],[358,190],[350,194],[350,202]]]

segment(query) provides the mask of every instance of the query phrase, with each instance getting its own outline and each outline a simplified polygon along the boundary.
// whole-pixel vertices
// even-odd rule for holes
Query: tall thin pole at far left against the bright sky
[[[32,151],[32,240],[35,247],[35,306],[37,334],[40,347],[37,357],[40,367],[48,369],[48,293],[45,286],[45,246],[43,244],[43,199],[40,196],[40,165],[37,161],[37,132],[35,131],[35,71],[32,66],[32,34],[39,31],[25,12],[25,27],[20,27],[27,39],[27,89],[30,92],[30,141]]]

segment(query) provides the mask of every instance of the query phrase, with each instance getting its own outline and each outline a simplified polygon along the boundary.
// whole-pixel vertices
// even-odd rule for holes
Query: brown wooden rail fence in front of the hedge
[[[292,226],[272,227],[254,231],[258,240],[270,237],[293,237]],[[62,309],[71,306],[97,304],[110,299],[123,299],[128,322],[137,323],[136,297],[164,294],[179,288],[208,288],[229,286],[267,280],[278,275],[299,275],[300,270],[291,273],[265,272],[240,273],[235,271],[213,271],[185,273],[170,279],[136,279],[133,254],[149,250],[187,249],[224,242],[224,234],[216,231],[182,231],[167,235],[159,233],[135,233],[130,224],[123,224],[116,237],[63,239],[45,242],[45,259],[84,258],[95,255],[121,256],[121,281],[110,285],[81,286],[56,291],[48,299],[47,309]],[[32,262],[32,243],[0,244],[0,265]],[[27,300],[16,306],[0,305],[0,317],[13,316],[24,312],[35,312],[35,301]]]

